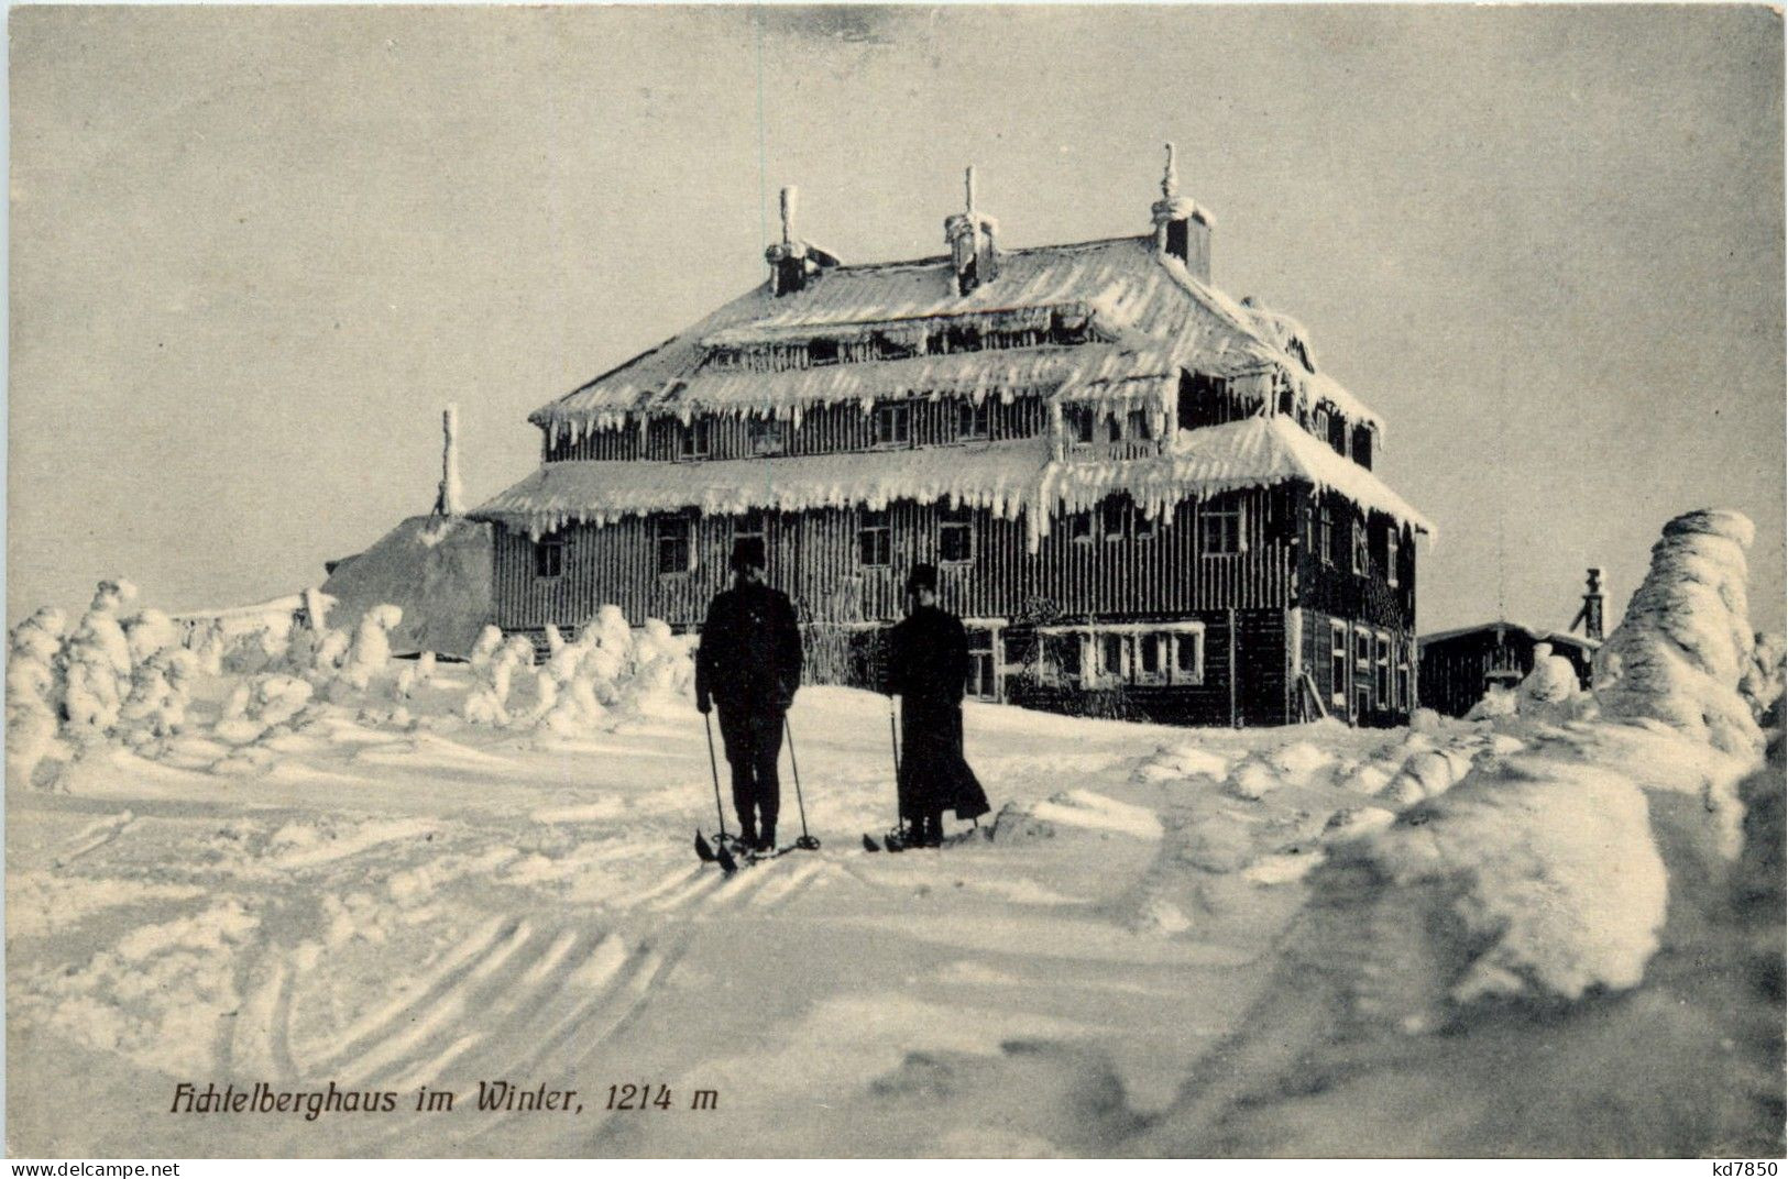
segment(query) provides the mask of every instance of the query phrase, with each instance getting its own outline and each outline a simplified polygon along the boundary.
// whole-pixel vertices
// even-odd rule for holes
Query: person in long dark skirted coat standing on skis
[[[908,847],[939,847],[944,811],[957,818],[987,813],[987,795],[962,759],[969,636],[960,618],[937,606],[935,566],[915,564],[907,593],[912,609],[890,636],[889,675],[889,695],[901,698],[899,815]]]

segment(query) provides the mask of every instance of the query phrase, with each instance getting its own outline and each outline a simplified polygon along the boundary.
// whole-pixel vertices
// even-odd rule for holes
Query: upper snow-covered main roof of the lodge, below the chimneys
[[[910,359],[864,359],[815,368],[753,372],[717,363],[715,350],[776,348],[808,339],[917,336],[937,327],[1042,330],[1051,314],[1085,320],[1092,343],[978,350]],[[1293,325],[1287,329],[1287,323]],[[1303,355],[1296,355],[1296,339]],[[837,266],[805,289],[771,295],[760,286],[658,348],[542,406],[529,420],[570,436],[619,425],[628,413],[735,411],[799,414],[837,400],[912,391],[1005,388],[1014,372],[1030,388],[1096,397],[1100,382],[1180,368],[1221,377],[1282,372],[1311,402],[1328,400],[1355,422],[1379,416],[1325,373],[1312,372],[1307,336],[1264,307],[1243,307],[1155,250],[1151,238],[1116,238],[1010,250],[999,277],[957,293],[946,257]],[[1091,379],[1089,379],[1091,373]]]

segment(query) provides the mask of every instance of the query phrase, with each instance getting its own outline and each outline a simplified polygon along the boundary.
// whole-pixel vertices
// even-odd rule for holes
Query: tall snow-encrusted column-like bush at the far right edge
[[[1734,511],[1693,511],[1665,525],[1627,616],[1595,656],[1595,698],[1609,718],[1652,718],[1734,754],[1763,734],[1738,695],[1756,638],[1747,618],[1745,548]]]

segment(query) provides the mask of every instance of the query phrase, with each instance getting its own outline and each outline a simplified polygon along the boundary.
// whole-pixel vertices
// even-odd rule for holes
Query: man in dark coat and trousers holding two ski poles
[[[733,768],[740,838],[776,849],[783,716],[801,686],[801,629],[794,604],[763,584],[763,541],[733,545],[733,588],[713,595],[696,650],[696,707],[721,709],[721,740]]]

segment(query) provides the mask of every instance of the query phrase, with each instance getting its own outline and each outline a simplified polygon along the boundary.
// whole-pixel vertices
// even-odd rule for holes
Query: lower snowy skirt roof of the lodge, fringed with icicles
[[[1126,491],[1144,511],[1166,514],[1193,495],[1295,481],[1332,488],[1413,529],[1434,532],[1434,525],[1377,475],[1284,416],[1178,431],[1164,454],[1141,459],[1053,459],[1044,438],[1026,438],[776,459],[547,463],[470,514],[542,536],[569,523],[610,523],[687,507],[726,514],[885,507],[896,498],[951,500],[1007,518],[1025,516],[1035,543],[1050,531],[1057,509],[1087,509],[1116,491]]]

